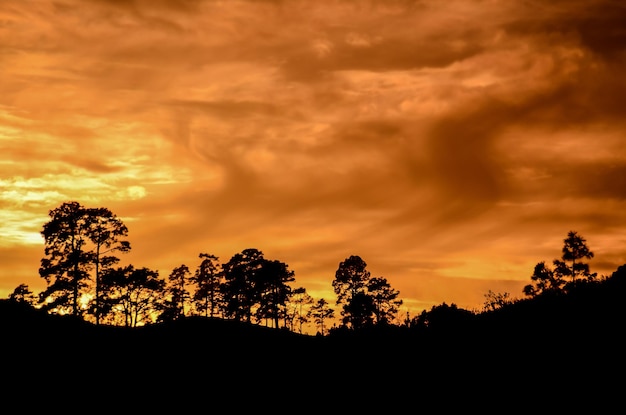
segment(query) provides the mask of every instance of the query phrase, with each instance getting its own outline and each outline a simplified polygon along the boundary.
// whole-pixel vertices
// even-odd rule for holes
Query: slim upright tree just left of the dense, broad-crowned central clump
[[[190,282],[196,286],[192,300],[199,313],[206,317],[214,317],[222,303],[219,287],[224,274],[218,257],[205,253],[198,256],[202,262],[190,278]]]

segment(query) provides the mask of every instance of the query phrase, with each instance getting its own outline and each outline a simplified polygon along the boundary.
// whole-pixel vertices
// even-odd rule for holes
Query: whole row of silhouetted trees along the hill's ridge
[[[314,299],[298,286],[295,272],[262,251],[245,249],[220,262],[200,253],[195,269],[175,267],[167,278],[147,267],[118,266],[119,254],[129,252],[128,228],[106,208],[87,208],[66,202],[49,212],[41,231],[45,256],[39,275],[46,288],[37,295],[19,285],[9,299],[28,303],[51,314],[64,314],[96,325],[137,327],[205,316],[265,324],[302,333],[314,324],[318,334],[367,327],[404,326],[417,331],[445,322],[457,325],[480,312],[445,302],[400,321],[403,301],[384,277],[372,277],[357,255],[340,262],[332,281],[334,301]],[[527,298],[568,293],[581,284],[596,282],[586,259],[594,254],[586,240],[570,231],[562,256],[549,266],[539,262],[531,283],[523,288]],[[604,277],[606,278],[606,277]],[[603,279],[603,278],[601,278]],[[510,293],[485,294],[483,312],[499,310],[522,300]],[[339,307],[336,319],[333,305]],[[337,324],[338,322],[338,324]],[[332,326],[331,326],[332,323]],[[330,326],[330,327],[329,327]]]

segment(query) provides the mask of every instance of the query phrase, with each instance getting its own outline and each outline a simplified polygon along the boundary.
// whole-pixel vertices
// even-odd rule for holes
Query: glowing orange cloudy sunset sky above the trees
[[[167,277],[247,248],[334,303],[360,256],[416,315],[523,298],[576,231],[626,263],[626,4],[0,2],[0,297],[67,201]]]

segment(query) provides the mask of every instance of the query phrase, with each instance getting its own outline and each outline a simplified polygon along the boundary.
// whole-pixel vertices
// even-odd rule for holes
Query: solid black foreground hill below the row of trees
[[[307,413],[387,413],[400,401],[456,412],[459,404],[484,409],[505,397],[521,410],[535,405],[527,401],[533,394],[551,394],[558,407],[544,402],[542,408],[558,410],[564,403],[557,392],[568,391],[568,399],[592,400],[594,412],[602,413],[611,396],[621,396],[612,388],[624,386],[612,375],[621,373],[626,346],[625,298],[626,268],[620,267],[567,294],[489,313],[452,310],[429,327],[324,337],[201,317],[139,328],[95,326],[0,300],[4,393],[54,406],[89,396],[99,413],[123,406],[124,413],[186,414],[191,409],[182,408],[191,404],[293,413],[287,409],[294,402]],[[572,395],[573,385],[585,385],[581,395]],[[600,391],[609,395],[598,400]]]

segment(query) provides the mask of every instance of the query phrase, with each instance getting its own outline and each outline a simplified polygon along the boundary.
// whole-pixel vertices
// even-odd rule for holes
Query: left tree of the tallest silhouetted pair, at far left
[[[89,211],[78,202],[66,202],[49,211],[44,224],[45,258],[39,275],[47,287],[40,293],[42,308],[82,315],[79,302],[89,287],[89,271],[93,268],[93,252],[86,250],[91,221]]]

